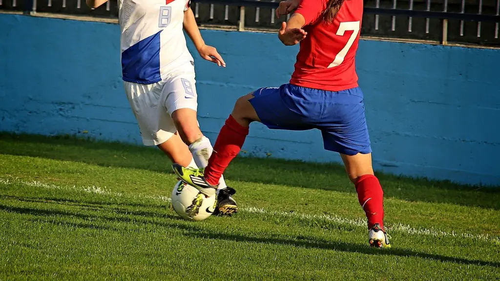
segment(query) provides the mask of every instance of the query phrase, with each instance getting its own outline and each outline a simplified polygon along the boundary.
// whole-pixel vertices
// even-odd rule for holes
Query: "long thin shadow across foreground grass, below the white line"
[[[425,253],[407,249],[398,249],[398,248],[379,250],[379,249],[369,248],[367,245],[350,243],[350,242],[327,241],[315,236],[301,235],[295,237],[295,239],[287,239],[287,238],[276,238],[276,237],[252,237],[244,234],[224,233],[224,229],[218,229],[215,232],[209,229],[203,229],[197,225],[194,225],[194,223],[189,223],[187,221],[181,220],[178,216],[173,214],[164,214],[162,215],[161,219],[157,219],[158,217],[155,215],[154,219],[150,219],[147,217],[147,213],[133,217],[113,216],[113,215],[100,214],[97,212],[95,213],[95,215],[93,215],[93,214],[82,214],[79,212],[73,212],[69,210],[60,210],[60,209],[49,210],[49,209],[40,209],[36,207],[7,206],[3,204],[0,204],[0,210],[7,212],[14,212],[18,214],[31,214],[40,217],[40,219],[33,221],[52,223],[62,226],[67,225],[70,227],[81,227],[88,229],[106,229],[111,231],[119,230],[118,228],[113,227],[113,225],[105,223],[99,224],[98,220],[107,220],[110,223],[125,222],[125,223],[130,223],[131,225],[137,223],[154,224],[157,225],[158,227],[177,228],[185,230],[182,231],[182,235],[188,237],[202,238],[202,239],[215,239],[215,240],[222,239],[222,240],[244,242],[244,243],[252,242],[252,243],[262,243],[262,244],[291,245],[300,248],[316,248],[316,249],[335,250],[335,251],[351,252],[351,253],[363,253],[370,255],[419,257],[423,259],[438,260],[442,262],[452,262],[464,265],[500,267],[499,262],[451,257],[440,254],[431,254],[431,253]],[[71,219],[74,217],[85,219],[85,221],[84,222],[67,221],[67,219]]]

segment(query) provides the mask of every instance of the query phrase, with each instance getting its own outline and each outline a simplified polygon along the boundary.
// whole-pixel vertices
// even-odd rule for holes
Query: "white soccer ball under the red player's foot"
[[[203,220],[217,206],[216,195],[205,197],[198,189],[180,180],[173,187],[171,199],[175,212],[188,220]]]

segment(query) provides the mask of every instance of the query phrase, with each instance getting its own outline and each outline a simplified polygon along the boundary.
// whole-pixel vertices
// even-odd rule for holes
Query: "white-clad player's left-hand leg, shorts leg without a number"
[[[176,133],[171,118],[159,104],[162,83],[138,84],[124,82],[125,93],[139,124],[144,145],[156,145],[174,163],[197,167],[187,145]]]

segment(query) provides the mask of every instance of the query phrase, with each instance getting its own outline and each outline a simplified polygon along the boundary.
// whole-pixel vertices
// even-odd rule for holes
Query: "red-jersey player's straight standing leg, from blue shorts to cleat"
[[[364,116],[362,92],[359,88],[332,93],[334,112],[322,127],[324,148],[339,152],[349,179],[354,183],[359,204],[368,220],[369,242],[374,246],[390,246],[383,228],[383,191],[373,174],[371,146]],[[330,123],[331,121],[331,123]]]

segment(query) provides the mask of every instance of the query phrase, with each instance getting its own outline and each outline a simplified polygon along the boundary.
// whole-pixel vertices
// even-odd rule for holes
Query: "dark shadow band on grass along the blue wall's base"
[[[0,132],[0,153],[83,162],[100,166],[171,173],[158,149],[72,136],[41,136]],[[237,157],[227,168],[229,180],[284,184],[354,193],[343,167],[336,163],[304,163],[280,159]],[[500,188],[466,186],[447,181],[412,179],[377,173],[386,197],[409,201],[452,203],[500,209]],[[235,186],[237,188],[237,186]]]

